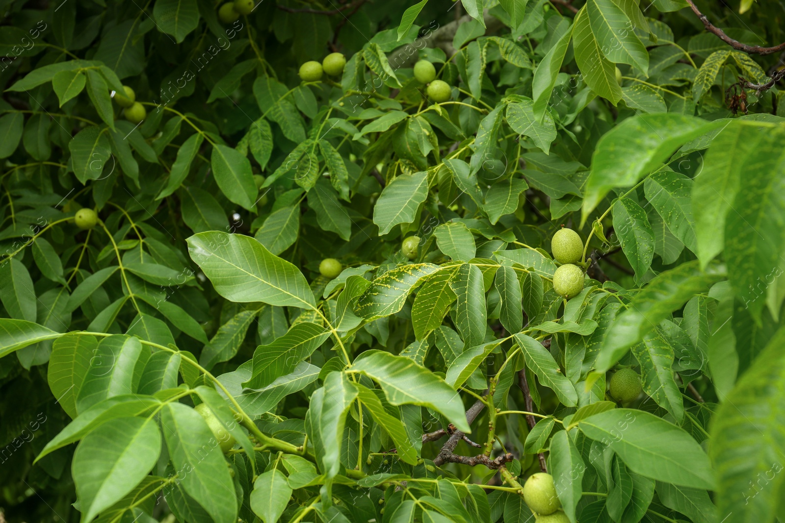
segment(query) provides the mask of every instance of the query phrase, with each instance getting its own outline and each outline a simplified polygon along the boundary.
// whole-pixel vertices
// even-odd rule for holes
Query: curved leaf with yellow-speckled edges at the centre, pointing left
[[[410,263],[385,272],[357,300],[354,311],[366,321],[395,314],[420,278],[440,271],[433,263]]]

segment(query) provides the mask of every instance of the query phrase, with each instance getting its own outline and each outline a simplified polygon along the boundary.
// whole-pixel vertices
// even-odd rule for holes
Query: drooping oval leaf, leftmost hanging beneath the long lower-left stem
[[[97,345],[94,336],[78,332],[66,334],[52,344],[46,379],[57,403],[71,418],[76,417],[76,398]]]

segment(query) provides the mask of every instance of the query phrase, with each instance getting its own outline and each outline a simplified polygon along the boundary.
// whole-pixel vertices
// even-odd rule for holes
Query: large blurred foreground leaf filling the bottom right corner
[[[730,394],[721,396],[710,428],[709,452],[717,472],[714,499],[718,514],[733,513],[731,521],[774,521],[782,500],[783,340],[785,330],[780,329]]]

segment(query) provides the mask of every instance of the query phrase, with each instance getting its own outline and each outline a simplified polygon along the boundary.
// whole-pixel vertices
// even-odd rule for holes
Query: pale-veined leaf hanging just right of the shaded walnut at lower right
[[[633,355],[641,364],[643,391],[657,405],[670,412],[677,423],[685,419],[684,400],[674,380],[674,350],[655,329],[647,332],[641,343],[632,347]]]

